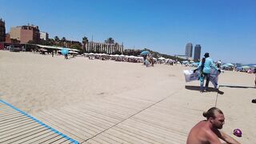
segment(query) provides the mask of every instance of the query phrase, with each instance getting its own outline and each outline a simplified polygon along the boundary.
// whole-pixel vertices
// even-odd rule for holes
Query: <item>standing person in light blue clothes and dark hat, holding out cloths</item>
[[[210,82],[210,69],[214,68],[215,70],[218,70],[218,72],[220,72],[220,70],[214,65],[214,62],[210,57],[209,53],[206,53],[204,55],[205,57],[205,62],[200,62],[200,64],[198,65],[198,68],[196,70],[199,70],[202,68],[202,72],[204,77],[206,78],[206,86],[205,89],[203,91],[208,91],[208,86],[209,86],[209,82]],[[203,65],[203,66],[202,66]],[[195,70],[194,70],[195,72]]]

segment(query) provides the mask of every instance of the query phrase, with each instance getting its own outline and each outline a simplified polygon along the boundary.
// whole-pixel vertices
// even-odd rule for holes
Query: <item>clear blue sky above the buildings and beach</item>
[[[256,63],[255,0],[0,0],[10,27],[39,26],[50,38],[114,38],[125,48],[184,55],[186,43],[222,62]],[[194,54],[193,54],[194,55]]]

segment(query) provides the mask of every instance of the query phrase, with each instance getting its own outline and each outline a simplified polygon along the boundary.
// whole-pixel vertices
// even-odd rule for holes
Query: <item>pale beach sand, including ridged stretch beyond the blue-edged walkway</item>
[[[0,50],[0,98],[87,143],[186,143],[202,112],[216,105],[223,130],[254,143],[256,90],[221,86],[201,94],[199,82],[185,82],[188,69]],[[254,86],[254,74],[225,71],[218,84]],[[236,128],[242,138],[232,134]]]

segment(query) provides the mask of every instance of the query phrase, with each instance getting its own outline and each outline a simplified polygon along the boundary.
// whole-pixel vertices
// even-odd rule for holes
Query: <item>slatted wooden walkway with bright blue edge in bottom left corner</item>
[[[0,143],[78,143],[0,100]]]

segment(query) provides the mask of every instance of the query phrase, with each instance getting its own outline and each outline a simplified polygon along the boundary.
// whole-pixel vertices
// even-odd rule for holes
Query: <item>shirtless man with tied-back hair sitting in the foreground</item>
[[[221,138],[226,143],[239,144],[234,138],[218,130],[222,129],[225,122],[222,110],[212,107],[202,115],[207,118],[207,120],[198,122],[198,124],[190,130],[186,144],[219,144],[221,142],[218,138]]]

